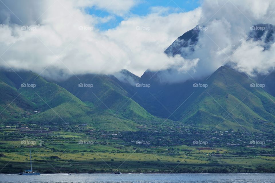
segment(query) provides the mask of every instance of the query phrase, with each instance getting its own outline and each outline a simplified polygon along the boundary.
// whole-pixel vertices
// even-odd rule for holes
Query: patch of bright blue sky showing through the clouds
[[[168,13],[176,13],[176,12],[186,12],[199,7],[199,0],[141,0],[140,3],[135,5],[130,12],[128,12],[131,16],[145,16],[152,12],[153,7],[168,7],[170,11]],[[160,8],[161,9],[161,8]],[[117,16],[111,14],[102,9],[97,9],[96,7],[90,8],[87,10],[89,14],[93,14],[98,17],[107,17],[112,15],[114,18],[107,23],[101,23],[97,25],[97,28],[100,30],[107,30],[117,27],[119,23],[125,18],[129,17],[128,13],[125,13],[124,17]]]

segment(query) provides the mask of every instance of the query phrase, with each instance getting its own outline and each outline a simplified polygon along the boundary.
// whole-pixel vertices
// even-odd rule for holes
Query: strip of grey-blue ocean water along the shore
[[[30,183],[274,183],[275,174],[0,174],[0,182]]]

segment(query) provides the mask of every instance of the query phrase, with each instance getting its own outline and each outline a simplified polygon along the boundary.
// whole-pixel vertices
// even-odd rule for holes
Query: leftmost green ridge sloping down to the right
[[[74,96],[59,85],[47,82],[36,73],[21,71],[17,74],[1,73],[0,89],[5,94],[1,95],[1,108],[11,103],[4,111],[8,120],[18,118],[17,121],[21,121],[24,117],[26,122],[37,121],[45,125],[85,123],[91,128],[121,131],[136,130],[138,126],[131,120],[114,116],[111,112],[101,111],[91,105],[88,106],[77,98],[77,94]],[[22,83],[27,86],[35,84],[35,87],[21,87]],[[17,116],[14,115],[11,118],[11,114],[17,114]],[[16,120],[13,119],[13,121]]]

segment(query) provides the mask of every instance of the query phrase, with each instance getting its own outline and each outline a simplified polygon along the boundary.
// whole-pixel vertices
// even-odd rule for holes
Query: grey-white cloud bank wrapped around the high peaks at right
[[[275,29],[268,25],[275,24],[274,1],[205,0],[201,9],[199,28],[196,27],[201,28],[198,42],[180,48],[177,53],[185,59],[197,59],[197,63],[181,71],[179,64],[173,65],[174,72],[159,74],[162,81],[207,78],[226,64],[250,77],[267,75],[274,69]],[[178,49],[176,44],[175,49]],[[194,62],[185,63],[191,66]]]

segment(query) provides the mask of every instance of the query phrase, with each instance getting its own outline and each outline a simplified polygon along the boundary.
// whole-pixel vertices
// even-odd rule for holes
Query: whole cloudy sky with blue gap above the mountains
[[[248,38],[252,26],[275,24],[274,12],[274,0],[1,0],[0,66],[52,79],[172,69],[163,77],[178,82],[227,63],[251,77],[268,74],[275,44],[265,50],[262,40]],[[207,29],[193,52],[164,53],[197,25]]]

